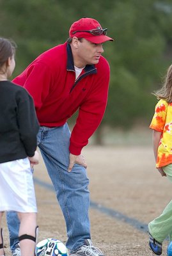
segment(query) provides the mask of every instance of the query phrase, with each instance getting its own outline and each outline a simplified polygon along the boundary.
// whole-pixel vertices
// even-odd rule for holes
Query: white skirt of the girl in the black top
[[[29,159],[0,163],[0,211],[37,212]]]

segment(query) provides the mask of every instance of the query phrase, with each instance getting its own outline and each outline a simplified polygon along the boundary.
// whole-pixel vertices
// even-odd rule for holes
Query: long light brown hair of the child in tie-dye
[[[172,102],[172,65],[168,68],[162,88],[157,90],[157,92],[153,92],[153,95],[155,95],[159,100],[163,99],[168,103]]]

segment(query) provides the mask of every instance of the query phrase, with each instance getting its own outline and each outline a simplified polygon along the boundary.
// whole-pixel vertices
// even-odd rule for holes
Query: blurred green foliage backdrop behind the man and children
[[[104,44],[111,83],[106,114],[96,132],[102,143],[107,127],[148,128],[157,102],[152,92],[171,64],[171,12],[170,0],[0,0],[0,36],[18,45],[17,76],[38,54],[65,42],[75,20],[93,17],[108,28],[115,41]]]

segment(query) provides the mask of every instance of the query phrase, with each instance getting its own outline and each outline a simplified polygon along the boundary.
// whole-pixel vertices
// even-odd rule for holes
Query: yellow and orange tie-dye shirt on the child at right
[[[155,106],[150,128],[162,132],[157,152],[156,167],[172,163],[172,103],[159,100]]]

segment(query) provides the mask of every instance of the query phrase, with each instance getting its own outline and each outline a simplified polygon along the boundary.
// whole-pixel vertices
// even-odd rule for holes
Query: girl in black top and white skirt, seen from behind
[[[38,164],[39,124],[31,96],[8,81],[14,68],[15,44],[0,38],[0,228],[3,212],[17,211],[21,255],[34,256],[37,209],[31,166]]]

